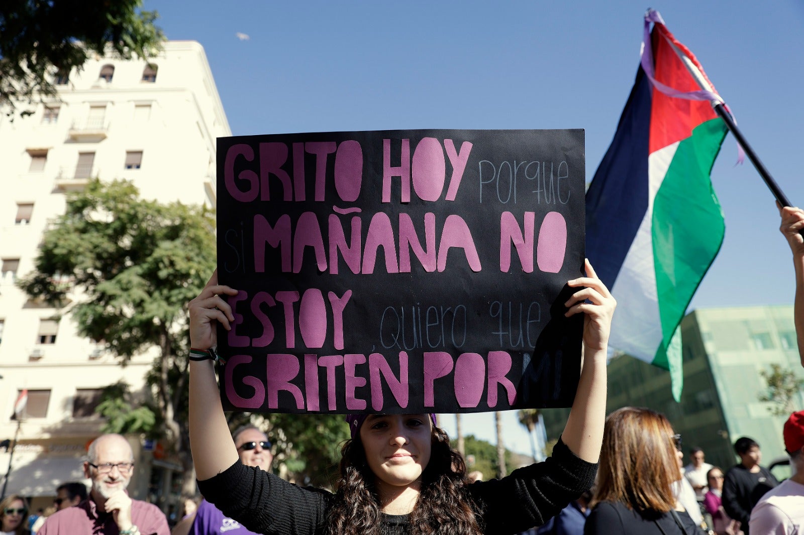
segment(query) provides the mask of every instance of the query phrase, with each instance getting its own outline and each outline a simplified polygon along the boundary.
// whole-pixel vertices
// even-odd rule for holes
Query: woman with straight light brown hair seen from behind
[[[626,406],[605,420],[597,488],[585,535],[701,535],[673,492],[681,479],[675,435],[664,415]]]

